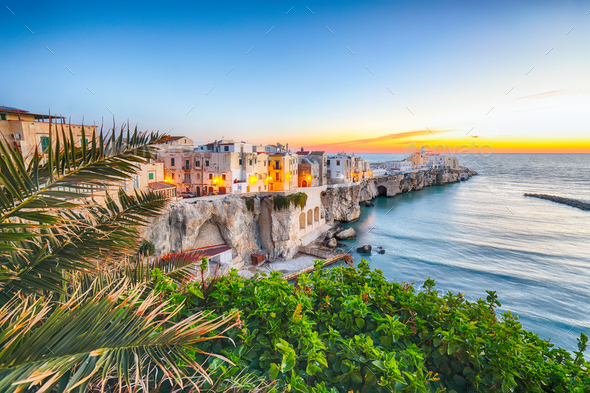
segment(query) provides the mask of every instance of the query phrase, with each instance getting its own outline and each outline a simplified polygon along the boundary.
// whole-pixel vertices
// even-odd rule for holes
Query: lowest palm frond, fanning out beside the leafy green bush
[[[103,387],[141,386],[146,379],[182,387],[188,381],[181,363],[212,382],[189,352],[203,353],[199,342],[223,338],[237,314],[197,313],[172,323],[181,307],[144,292],[126,280],[96,294],[78,292],[47,318],[46,299],[13,300],[0,308],[0,391],[35,386],[38,392],[83,392],[96,378]]]

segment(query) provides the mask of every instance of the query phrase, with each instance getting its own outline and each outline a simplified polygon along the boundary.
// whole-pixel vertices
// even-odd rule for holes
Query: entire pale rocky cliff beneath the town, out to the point
[[[301,236],[310,232],[310,222],[316,230],[324,222],[324,215],[328,223],[354,221],[360,216],[361,202],[379,195],[394,196],[466,180],[472,174],[466,168],[419,171],[329,189],[312,187],[306,190],[308,198],[303,211],[294,204],[276,209],[270,194],[247,199],[227,195],[182,201],[170,204],[155,218],[145,229],[144,237],[154,243],[158,255],[227,244],[233,249],[235,261],[248,263],[250,254],[259,252],[266,252],[270,261],[291,259],[299,251]],[[322,218],[317,224],[320,214]]]

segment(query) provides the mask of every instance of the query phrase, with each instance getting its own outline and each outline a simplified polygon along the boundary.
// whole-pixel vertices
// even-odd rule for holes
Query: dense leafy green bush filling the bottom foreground
[[[229,332],[237,346],[211,341],[203,350],[285,391],[590,391],[585,335],[572,358],[510,312],[498,318],[495,292],[470,302],[434,286],[388,282],[365,261],[318,268],[294,286],[278,272],[260,280],[232,271],[215,283],[208,309],[241,311],[243,328]]]

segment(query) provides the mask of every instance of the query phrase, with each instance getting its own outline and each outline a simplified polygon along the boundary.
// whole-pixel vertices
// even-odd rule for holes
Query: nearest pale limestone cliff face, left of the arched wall
[[[262,250],[270,260],[290,259],[299,247],[300,213],[293,205],[274,210],[271,198],[254,198],[250,211],[236,195],[176,203],[152,222],[145,238],[154,243],[158,255],[227,244],[233,257],[244,261]]]

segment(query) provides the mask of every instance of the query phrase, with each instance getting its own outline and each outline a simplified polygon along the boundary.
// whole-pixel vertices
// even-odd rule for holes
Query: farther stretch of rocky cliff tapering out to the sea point
[[[424,187],[456,183],[477,173],[467,168],[441,169],[403,173],[394,176],[362,180],[348,187],[330,188],[322,195],[326,218],[338,221],[355,221],[359,218],[360,202],[378,195],[393,197],[397,194],[421,190]]]

